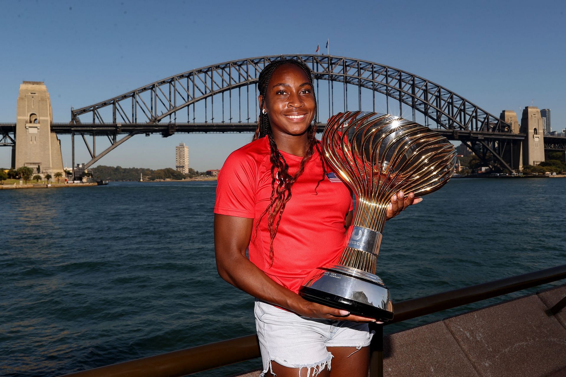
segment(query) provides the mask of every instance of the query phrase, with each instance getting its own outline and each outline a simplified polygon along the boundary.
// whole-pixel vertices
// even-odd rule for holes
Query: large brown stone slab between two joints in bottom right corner
[[[544,377],[566,367],[566,329],[537,294],[444,320],[481,376]]]

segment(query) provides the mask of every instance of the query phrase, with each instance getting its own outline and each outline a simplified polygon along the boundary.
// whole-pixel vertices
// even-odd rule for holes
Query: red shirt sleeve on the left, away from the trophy
[[[218,174],[216,214],[250,219],[255,217],[257,170],[254,158],[240,150],[228,156]]]

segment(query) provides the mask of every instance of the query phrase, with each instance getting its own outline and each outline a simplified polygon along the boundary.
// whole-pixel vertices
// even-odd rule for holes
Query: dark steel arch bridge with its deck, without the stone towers
[[[252,132],[258,119],[259,72],[281,58],[298,59],[311,68],[319,131],[336,112],[386,112],[427,125],[449,140],[461,141],[494,170],[518,168],[513,150],[520,153],[526,134],[510,123],[413,73],[332,55],[271,55],[201,67],[71,109],[70,122],[50,123],[50,130],[71,135],[73,166],[75,137],[83,139],[91,156],[85,167],[135,135]],[[15,144],[15,129],[14,123],[0,124],[0,146]],[[108,141],[97,150],[100,137]],[[566,150],[566,137],[544,136],[544,149]]]

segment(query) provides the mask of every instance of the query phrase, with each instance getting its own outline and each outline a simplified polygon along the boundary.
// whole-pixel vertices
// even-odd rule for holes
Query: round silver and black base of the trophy
[[[384,322],[393,319],[389,289],[377,275],[341,265],[319,267],[299,289],[305,300]]]

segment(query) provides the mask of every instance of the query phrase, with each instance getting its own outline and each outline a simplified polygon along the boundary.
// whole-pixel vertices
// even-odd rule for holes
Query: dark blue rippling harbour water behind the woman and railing
[[[453,179],[424,197],[384,229],[378,274],[393,300],[566,263],[565,183]],[[0,192],[0,375],[57,376],[255,332],[253,299],[216,273],[215,188],[112,182]]]

